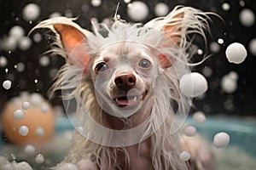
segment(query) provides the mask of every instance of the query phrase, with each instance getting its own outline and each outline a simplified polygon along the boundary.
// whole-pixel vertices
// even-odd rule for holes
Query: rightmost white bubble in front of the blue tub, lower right
[[[230,135],[224,132],[215,134],[213,144],[218,149],[227,147],[230,144]]]

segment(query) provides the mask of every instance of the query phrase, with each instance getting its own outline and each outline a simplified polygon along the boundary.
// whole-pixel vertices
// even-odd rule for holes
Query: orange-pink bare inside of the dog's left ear
[[[55,24],[54,28],[61,36],[62,46],[68,55],[67,62],[86,67],[90,61],[90,54],[84,34],[73,26]]]

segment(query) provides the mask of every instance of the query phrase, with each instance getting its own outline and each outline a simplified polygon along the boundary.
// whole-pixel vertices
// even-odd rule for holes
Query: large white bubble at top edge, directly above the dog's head
[[[127,6],[127,14],[134,21],[143,21],[148,17],[148,6],[141,1],[134,1]]]

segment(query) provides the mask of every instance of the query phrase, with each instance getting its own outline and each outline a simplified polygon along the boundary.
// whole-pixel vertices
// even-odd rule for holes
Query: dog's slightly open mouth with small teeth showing
[[[143,94],[141,95],[121,95],[116,98],[114,98],[114,102],[116,105],[119,107],[125,107],[128,105],[135,105],[137,103],[137,100],[143,100],[145,96],[148,94],[148,91],[146,90]]]

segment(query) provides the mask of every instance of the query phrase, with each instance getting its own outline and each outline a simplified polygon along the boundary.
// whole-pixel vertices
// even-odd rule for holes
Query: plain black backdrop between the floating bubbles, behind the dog
[[[212,16],[211,32],[212,37],[207,37],[207,42],[217,42],[218,38],[224,39],[224,44],[220,45],[220,51],[213,54],[211,58],[207,59],[201,66],[193,68],[193,71],[201,72],[204,67],[212,69],[212,76],[207,77],[209,82],[209,89],[203,99],[194,99],[195,110],[205,111],[207,115],[236,115],[236,116],[254,116],[256,115],[256,56],[250,54],[248,50],[248,42],[256,37],[256,24],[253,26],[242,26],[238,15],[242,8],[250,8],[254,14],[256,12],[255,0],[244,0],[244,7],[241,7],[238,0],[179,0],[179,1],[157,1],[157,0],[142,0],[147,3],[150,14],[143,22],[151,20],[155,17],[154,6],[157,3],[164,2],[168,4],[170,10],[177,4],[188,5],[195,8],[200,8],[204,11],[211,11],[219,14],[223,19]],[[131,1],[132,2],[132,1]],[[38,20],[28,23],[23,20],[22,9],[26,3],[37,3],[41,8],[41,14]],[[90,19],[96,17],[100,22],[104,18],[112,18],[115,9],[119,4],[119,14],[121,18],[132,22],[126,14],[127,3],[124,1],[105,1],[99,7],[93,7],[89,0],[0,0],[0,40],[8,35],[9,29],[12,26],[22,26],[26,34],[39,21],[49,18],[49,14],[59,12],[62,15],[67,13],[73,14],[74,17],[79,16],[77,22],[80,26],[90,30]],[[222,3],[229,3],[230,10],[224,11],[221,8]],[[43,33],[45,31],[40,31]],[[33,33],[32,33],[33,35]],[[50,39],[43,36],[41,42],[33,42],[32,47],[26,51],[21,51],[17,48],[14,51],[6,52],[0,47],[0,56],[8,59],[9,63],[6,67],[0,67],[0,113],[3,110],[4,103],[8,99],[19,95],[22,91],[31,93],[38,92],[47,97],[47,91],[52,84],[52,78],[55,76],[55,71],[64,64],[64,60],[60,57],[50,56],[50,64],[47,67],[39,65],[39,58],[49,49]],[[230,64],[225,58],[225,48],[231,42],[241,42],[247,48],[247,59],[239,64]],[[204,45],[200,41],[195,41],[204,51]],[[1,43],[0,43],[1,45]],[[207,54],[212,54],[211,50],[207,49]],[[195,59],[198,54],[195,54]],[[26,65],[25,71],[18,72],[14,65],[23,62]],[[5,68],[9,72],[5,72]],[[230,71],[236,71],[238,74],[238,87],[236,92],[226,94],[220,87],[220,79]],[[38,83],[35,83],[35,78]],[[6,90],[2,87],[4,80],[12,81],[12,88]],[[49,101],[53,105],[61,105],[61,99],[58,94]],[[224,103],[229,103],[225,106]]]

